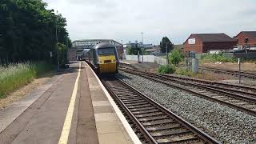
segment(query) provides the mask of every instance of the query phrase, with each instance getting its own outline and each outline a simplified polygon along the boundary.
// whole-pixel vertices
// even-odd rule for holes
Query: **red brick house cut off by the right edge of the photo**
[[[241,31],[234,39],[237,40],[237,47],[240,49],[256,48],[256,31]]]

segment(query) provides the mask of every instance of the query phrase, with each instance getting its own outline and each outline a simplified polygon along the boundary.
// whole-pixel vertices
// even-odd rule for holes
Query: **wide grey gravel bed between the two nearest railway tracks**
[[[223,143],[256,143],[256,117],[133,74],[117,75]]]

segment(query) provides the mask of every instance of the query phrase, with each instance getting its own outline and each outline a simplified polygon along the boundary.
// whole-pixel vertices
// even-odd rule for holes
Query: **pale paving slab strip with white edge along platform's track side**
[[[94,103],[94,118],[98,133],[98,142],[104,143],[141,143],[131,129],[126,118],[110,98],[102,82],[95,77],[93,70],[86,69],[88,82],[90,85],[90,95]],[[98,86],[95,86],[95,85]],[[102,100],[104,98],[104,100]],[[98,102],[99,101],[99,102]],[[107,102],[100,102],[107,101]],[[109,105],[110,106],[106,106]]]

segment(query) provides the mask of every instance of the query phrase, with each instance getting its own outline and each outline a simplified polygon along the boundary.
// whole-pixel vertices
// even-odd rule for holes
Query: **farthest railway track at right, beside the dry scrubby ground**
[[[238,70],[226,70],[226,69],[218,69],[218,68],[212,68],[212,67],[206,67],[206,66],[200,66],[199,70],[212,71],[214,73],[221,73],[221,74],[230,74],[230,75],[234,75],[236,77],[239,76],[239,71]],[[256,73],[241,71],[241,77],[242,78],[255,79],[256,78]]]

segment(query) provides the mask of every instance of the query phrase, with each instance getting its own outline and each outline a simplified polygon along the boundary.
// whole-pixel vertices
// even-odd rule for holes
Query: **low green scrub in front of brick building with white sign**
[[[200,59],[205,62],[237,62],[236,58],[227,57],[224,54],[202,54]]]

